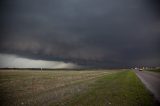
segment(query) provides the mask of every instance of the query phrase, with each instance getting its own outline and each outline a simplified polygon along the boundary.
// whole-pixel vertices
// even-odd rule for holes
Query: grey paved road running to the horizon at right
[[[160,102],[160,73],[138,70],[135,73]]]

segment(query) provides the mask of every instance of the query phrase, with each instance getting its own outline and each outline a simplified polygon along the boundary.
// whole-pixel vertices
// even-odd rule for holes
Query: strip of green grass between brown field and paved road
[[[153,95],[133,71],[106,75],[88,88],[51,106],[154,106]]]

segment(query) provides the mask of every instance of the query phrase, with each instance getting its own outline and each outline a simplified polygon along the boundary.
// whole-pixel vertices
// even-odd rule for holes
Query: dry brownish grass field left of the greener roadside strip
[[[49,105],[116,71],[0,71],[1,106]]]

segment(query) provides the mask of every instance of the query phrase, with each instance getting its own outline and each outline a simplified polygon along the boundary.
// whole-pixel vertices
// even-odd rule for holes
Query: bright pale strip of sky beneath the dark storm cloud
[[[18,57],[16,55],[0,54],[1,68],[56,68],[56,69],[72,69],[80,68],[80,66],[73,63],[64,63],[57,61],[33,60]]]

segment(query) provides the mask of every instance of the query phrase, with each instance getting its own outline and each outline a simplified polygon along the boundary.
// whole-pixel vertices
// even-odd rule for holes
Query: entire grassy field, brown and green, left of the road
[[[153,106],[134,72],[0,71],[1,106]]]

